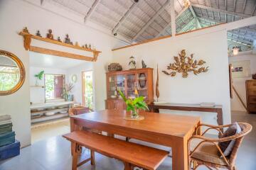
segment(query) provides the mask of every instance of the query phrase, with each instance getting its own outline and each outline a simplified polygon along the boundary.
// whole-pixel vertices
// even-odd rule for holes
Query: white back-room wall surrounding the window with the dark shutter
[[[39,72],[44,71],[44,74],[64,74],[65,75],[65,83],[68,82],[68,75],[66,69],[53,69],[53,68],[44,68],[44,67],[30,67],[30,73],[29,73],[29,80],[30,85],[35,86],[36,85],[36,77],[34,77],[35,74],[38,74]],[[44,86],[44,77],[41,80],[38,80],[39,86]],[[45,96],[45,89],[43,88],[30,88],[30,101],[35,103],[44,103],[46,101]]]

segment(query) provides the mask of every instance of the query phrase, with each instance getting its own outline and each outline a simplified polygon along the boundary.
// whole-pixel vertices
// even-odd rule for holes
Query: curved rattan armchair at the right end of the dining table
[[[210,170],[218,168],[235,170],[235,159],[238,154],[238,149],[245,135],[252,130],[252,125],[248,123],[238,123],[238,125],[240,125],[241,132],[229,137],[214,139],[204,136],[208,130],[217,130],[221,135],[223,135],[221,130],[223,128],[229,128],[230,125],[198,125],[196,132],[201,129],[202,126],[208,128],[202,133],[202,135],[193,135],[188,140],[188,162],[190,168],[193,163],[194,170],[196,170],[198,166],[206,166]],[[218,143],[232,140],[235,140],[233,149],[228,156],[225,156]]]

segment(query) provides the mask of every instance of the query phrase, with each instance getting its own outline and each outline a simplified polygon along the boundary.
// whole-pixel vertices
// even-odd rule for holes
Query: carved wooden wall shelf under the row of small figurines
[[[42,38],[39,37],[37,35],[32,35],[30,33],[25,33],[23,31],[21,31],[19,33],[19,35],[22,35],[24,38],[24,47],[26,50],[30,50],[33,52],[39,52],[39,53],[43,53],[46,55],[58,55],[61,57],[69,57],[69,58],[74,58],[74,59],[79,59],[79,60],[86,60],[86,61],[90,61],[90,62],[96,62],[98,55],[100,54],[100,51],[97,50],[92,50],[90,48],[85,48],[85,47],[80,47],[78,45],[70,45],[64,42],[59,42],[58,40],[51,40],[49,38]],[[55,45],[62,45],[64,47],[71,47],[77,50],[84,50],[87,52],[92,52],[93,53],[93,57],[87,57],[84,55],[75,55],[75,54],[71,54],[68,52],[60,52],[60,51],[56,51],[56,50],[50,50],[50,49],[46,49],[46,48],[41,48],[41,47],[33,47],[31,46],[31,39],[35,39],[35,40],[41,40],[43,42],[49,42]]]

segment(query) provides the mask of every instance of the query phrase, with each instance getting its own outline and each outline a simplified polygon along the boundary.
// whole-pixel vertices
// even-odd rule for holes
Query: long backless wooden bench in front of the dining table
[[[146,147],[144,145],[138,145],[87,131],[74,131],[63,135],[63,137],[73,143],[73,170],[76,170],[78,166],[89,161],[94,165],[94,152],[121,160],[124,162],[124,170],[131,170],[134,166],[149,170],[156,169],[169,154],[169,152],[161,149]],[[81,146],[90,149],[91,156],[89,159],[78,164],[78,154]]]

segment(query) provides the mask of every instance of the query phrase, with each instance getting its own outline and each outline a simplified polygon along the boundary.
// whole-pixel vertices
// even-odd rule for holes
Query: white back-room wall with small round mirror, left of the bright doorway
[[[73,74],[77,75],[78,77],[78,81],[74,84],[74,88],[70,93],[74,95],[74,101],[77,103],[82,104],[82,72],[90,71],[90,70],[93,70],[92,62],[86,62],[85,64],[80,64],[76,67],[72,67],[67,70],[68,82],[71,82],[71,77],[73,76]]]

